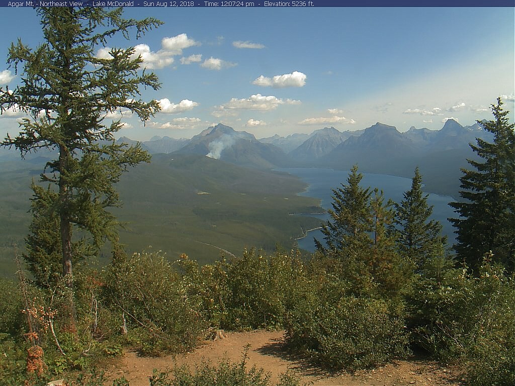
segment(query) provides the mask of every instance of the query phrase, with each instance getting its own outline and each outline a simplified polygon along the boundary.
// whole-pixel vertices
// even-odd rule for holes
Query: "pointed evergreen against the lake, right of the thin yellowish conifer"
[[[415,168],[411,180],[411,189],[404,192],[400,204],[395,203],[395,223],[398,226],[397,246],[399,252],[420,269],[424,261],[435,250],[444,249],[447,237],[442,237],[442,226],[438,221],[430,220],[433,206],[427,205],[428,195],[422,192],[422,176]]]

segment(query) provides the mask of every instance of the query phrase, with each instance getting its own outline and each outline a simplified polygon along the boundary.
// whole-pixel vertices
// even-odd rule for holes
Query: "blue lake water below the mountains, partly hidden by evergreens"
[[[331,208],[333,194],[331,189],[341,187],[342,183],[347,184],[347,178],[349,177],[349,170],[321,168],[282,168],[276,170],[293,174],[308,184],[309,186],[307,189],[300,193],[300,195],[320,199],[320,205],[324,209]],[[385,202],[388,199],[392,199],[393,201],[400,203],[403,199],[404,192],[411,188],[411,179],[409,178],[388,176],[387,174],[362,174],[363,179],[361,181],[361,185],[363,187],[370,187],[372,190],[374,188],[382,189],[385,196]],[[448,205],[451,201],[455,200],[449,196],[438,196],[433,193],[430,193],[427,198],[427,204],[433,205],[432,219],[440,221],[443,227],[442,232],[444,235],[447,235],[448,243],[450,245],[454,242],[455,235],[453,233],[454,228],[447,219],[449,217],[456,217],[456,214],[453,211],[454,209]],[[325,214],[316,217],[327,220],[329,215]],[[299,248],[314,252],[314,238],[322,241],[323,235],[319,230],[308,232],[306,237],[298,240]]]

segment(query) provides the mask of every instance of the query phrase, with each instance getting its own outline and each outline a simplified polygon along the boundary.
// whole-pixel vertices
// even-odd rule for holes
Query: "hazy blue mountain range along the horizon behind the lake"
[[[326,127],[311,134],[262,139],[218,124],[191,139],[156,136],[141,145],[153,154],[204,155],[260,170],[280,167],[349,170],[357,164],[363,172],[410,178],[419,166],[427,191],[457,197],[460,168],[468,167],[468,158],[474,159],[469,143],[475,143],[476,137],[492,141],[492,135],[483,130],[482,125],[462,126],[453,119],[448,119],[440,130],[411,127],[401,133],[394,126],[377,122],[356,131],[341,132]],[[136,143],[127,137],[117,142]],[[42,161],[51,156],[50,150],[43,149],[25,158]],[[4,170],[9,168],[13,157],[19,154],[0,148]]]

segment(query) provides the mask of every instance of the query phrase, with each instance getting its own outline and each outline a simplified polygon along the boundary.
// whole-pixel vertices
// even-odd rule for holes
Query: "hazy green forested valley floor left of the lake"
[[[20,247],[30,221],[30,179],[43,163],[19,161],[0,172],[0,269],[14,273],[12,244]],[[181,253],[201,263],[220,250],[241,253],[245,246],[272,251],[294,245],[302,229],[319,220],[293,213],[320,212],[316,199],[297,196],[305,184],[285,173],[242,168],[200,155],[155,154],[150,164],[125,173],[117,189],[123,207],[112,212],[125,225],[126,250],[162,250],[169,259]],[[101,259],[107,261],[109,248]]]

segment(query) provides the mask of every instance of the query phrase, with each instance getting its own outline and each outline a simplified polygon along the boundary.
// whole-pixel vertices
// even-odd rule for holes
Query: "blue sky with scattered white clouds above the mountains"
[[[163,111],[143,127],[134,117],[119,135],[191,137],[222,122],[257,138],[375,122],[440,129],[490,119],[502,96],[513,112],[513,8],[126,8],[126,17],[165,22],[139,41],[145,65],[162,82],[146,99]],[[39,20],[30,8],[0,15],[0,83],[11,42],[35,47]],[[106,55],[99,50],[98,56]],[[0,136],[17,132],[0,117]],[[513,114],[511,114],[513,119]]]

